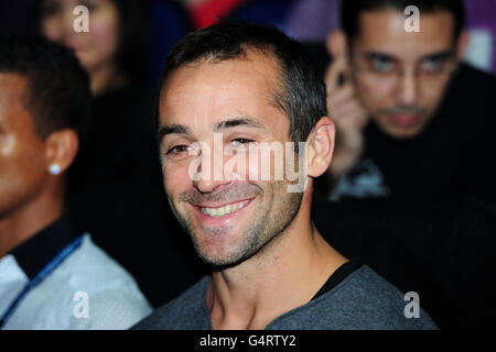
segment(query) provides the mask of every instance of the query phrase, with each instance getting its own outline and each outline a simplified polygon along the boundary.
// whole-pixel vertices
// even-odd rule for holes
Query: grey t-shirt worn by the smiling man
[[[211,276],[136,324],[137,330],[211,330],[206,293]],[[391,284],[363,265],[327,293],[272,320],[267,330],[390,330],[436,329],[419,308],[407,318],[409,304]]]

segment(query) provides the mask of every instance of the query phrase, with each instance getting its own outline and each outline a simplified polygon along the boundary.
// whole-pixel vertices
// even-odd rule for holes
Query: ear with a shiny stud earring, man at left
[[[74,130],[52,132],[45,140],[46,169],[54,175],[64,173],[74,162],[78,148],[79,139]]]

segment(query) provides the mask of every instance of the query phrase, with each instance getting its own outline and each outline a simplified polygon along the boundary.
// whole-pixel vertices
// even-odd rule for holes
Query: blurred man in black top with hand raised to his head
[[[335,202],[316,207],[316,223],[339,252],[416,292],[441,329],[493,328],[496,79],[461,63],[463,2],[342,6],[325,75]],[[419,32],[406,30],[409,6]]]

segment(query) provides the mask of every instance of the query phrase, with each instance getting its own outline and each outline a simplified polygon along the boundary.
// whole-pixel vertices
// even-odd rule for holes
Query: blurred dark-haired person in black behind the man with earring
[[[77,6],[88,9],[88,32],[74,31]],[[43,0],[36,7],[37,33],[74,51],[93,96],[88,131],[67,177],[68,216],[159,307],[206,268],[183,250],[187,238],[162,191],[147,1]]]

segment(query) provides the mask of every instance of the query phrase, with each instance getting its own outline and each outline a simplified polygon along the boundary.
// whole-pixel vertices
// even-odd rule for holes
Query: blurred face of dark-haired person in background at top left
[[[74,30],[78,14],[73,12],[77,6],[89,10],[88,33]],[[90,76],[101,69],[115,70],[120,34],[119,12],[114,1],[44,0],[41,9],[42,34],[73,48]]]

